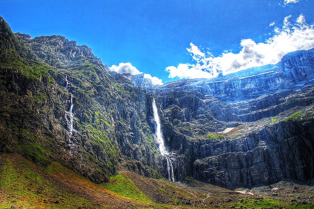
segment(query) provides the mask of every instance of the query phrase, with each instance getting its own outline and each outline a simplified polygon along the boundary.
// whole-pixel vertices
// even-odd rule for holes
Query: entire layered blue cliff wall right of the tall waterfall
[[[298,51],[277,65],[148,88],[176,178],[227,188],[313,178],[313,58],[314,49]]]

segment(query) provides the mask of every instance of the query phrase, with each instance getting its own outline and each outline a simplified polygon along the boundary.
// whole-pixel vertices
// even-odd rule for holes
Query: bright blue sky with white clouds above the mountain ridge
[[[163,83],[314,47],[314,0],[0,0],[0,16],[13,32],[63,35],[112,70]]]

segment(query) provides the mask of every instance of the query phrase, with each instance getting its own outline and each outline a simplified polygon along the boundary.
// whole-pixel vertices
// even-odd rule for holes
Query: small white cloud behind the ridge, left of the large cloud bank
[[[120,63],[119,66],[112,65],[109,68],[110,71],[115,71],[120,74],[122,73],[130,73],[131,75],[137,75],[141,74],[143,72],[140,72],[137,70],[134,66],[132,66],[131,63]],[[151,76],[150,74],[144,73],[144,78],[151,79],[153,85],[162,85],[162,80],[157,78],[156,76]]]

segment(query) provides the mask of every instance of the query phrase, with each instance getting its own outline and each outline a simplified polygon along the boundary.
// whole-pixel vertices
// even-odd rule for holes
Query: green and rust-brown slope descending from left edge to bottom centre
[[[126,181],[131,184],[131,180]],[[11,206],[23,209],[152,207],[146,202],[117,195],[59,163],[42,169],[15,154],[0,155],[0,188],[0,209]],[[139,199],[150,201],[143,195]]]

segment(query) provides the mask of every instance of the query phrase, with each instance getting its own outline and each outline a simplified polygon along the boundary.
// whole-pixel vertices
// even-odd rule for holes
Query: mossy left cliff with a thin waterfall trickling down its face
[[[3,19],[0,33],[1,152],[58,161],[97,183],[119,169],[163,174],[149,94],[109,75],[87,46],[15,35]]]

